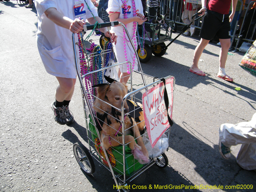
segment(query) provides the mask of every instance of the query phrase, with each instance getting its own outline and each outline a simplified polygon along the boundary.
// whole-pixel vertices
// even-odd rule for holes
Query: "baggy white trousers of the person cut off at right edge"
[[[256,113],[249,122],[222,124],[219,134],[227,147],[242,144],[236,157],[237,164],[246,170],[256,169]]]

